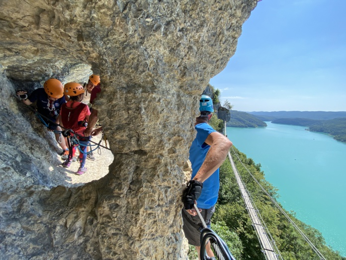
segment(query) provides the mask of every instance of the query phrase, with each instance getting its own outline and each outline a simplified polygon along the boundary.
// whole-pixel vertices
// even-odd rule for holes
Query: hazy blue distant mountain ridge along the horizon
[[[346,118],[346,111],[273,111],[273,112],[246,112],[256,116],[263,121],[272,121],[282,118],[305,118],[314,120],[330,120],[336,118]]]

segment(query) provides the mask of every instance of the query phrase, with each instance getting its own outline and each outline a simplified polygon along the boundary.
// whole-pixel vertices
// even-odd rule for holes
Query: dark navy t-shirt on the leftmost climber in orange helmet
[[[51,101],[48,99],[47,93],[44,88],[35,89],[30,97],[30,102],[36,102],[37,110],[40,114],[47,118],[56,119],[60,113],[61,106],[66,102],[65,96],[56,101]]]

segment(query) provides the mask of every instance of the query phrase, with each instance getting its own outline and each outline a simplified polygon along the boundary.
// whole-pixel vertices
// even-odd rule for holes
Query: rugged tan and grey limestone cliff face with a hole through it
[[[234,54],[257,0],[0,2],[0,254],[178,259],[183,163],[199,95]],[[51,136],[13,96],[101,76],[114,162],[69,187]]]

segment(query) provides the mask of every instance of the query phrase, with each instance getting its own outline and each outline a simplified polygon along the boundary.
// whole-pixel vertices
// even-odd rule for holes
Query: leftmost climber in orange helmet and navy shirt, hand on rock
[[[55,139],[63,149],[60,155],[62,158],[67,159],[69,149],[66,146],[65,138],[58,133],[58,131],[61,132],[62,130],[61,127],[58,126],[58,116],[61,106],[65,104],[63,84],[57,79],[49,79],[44,83],[43,88],[34,90],[29,97],[27,96],[27,92],[23,90],[18,90],[16,95],[28,106],[36,101],[38,113],[50,120],[41,117],[40,120],[42,124],[44,124],[49,131],[54,132]],[[55,124],[52,122],[55,122]]]

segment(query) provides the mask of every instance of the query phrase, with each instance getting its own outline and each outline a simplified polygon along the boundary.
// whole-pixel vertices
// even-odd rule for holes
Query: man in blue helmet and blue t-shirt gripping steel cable
[[[195,246],[200,259],[200,231],[202,223],[193,208],[196,203],[201,215],[210,228],[211,216],[215,211],[219,193],[219,167],[226,159],[232,142],[223,134],[214,130],[208,122],[214,112],[213,102],[209,96],[202,95],[199,101],[200,116],[196,118],[196,137],[189,150],[192,175],[184,194],[184,208],[181,210],[183,231],[188,244]],[[214,257],[210,243],[206,253]]]

